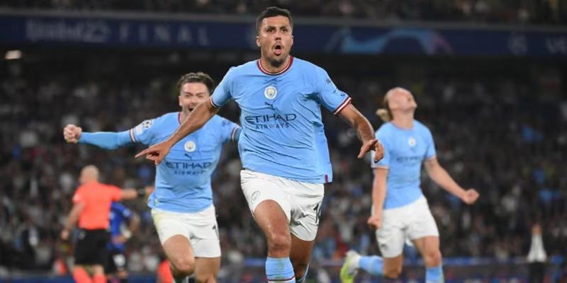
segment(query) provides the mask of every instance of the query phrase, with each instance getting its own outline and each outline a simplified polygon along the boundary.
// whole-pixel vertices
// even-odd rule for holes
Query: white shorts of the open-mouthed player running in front
[[[289,230],[303,241],[317,236],[323,184],[305,183],[255,171],[240,171],[242,192],[252,215],[260,202],[277,202],[289,221]]]

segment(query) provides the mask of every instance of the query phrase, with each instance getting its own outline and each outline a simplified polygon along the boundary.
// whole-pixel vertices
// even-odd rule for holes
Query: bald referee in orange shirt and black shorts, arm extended
[[[107,229],[111,202],[142,197],[151,193],[152,188],[120,190],[120,187],[99,183],[99,169],[92,165],[82,169],[79,183],[81,185],[73,195],[74,204],[61,231],[61,238],[69,239],[69,233],[78,220],[80,231],[74,253],[73,278],[79,283],[106,282],[103,266],[108,258],[106,244],[110,238]],[[84,269],[86,266],[91,267],[92,279]]]

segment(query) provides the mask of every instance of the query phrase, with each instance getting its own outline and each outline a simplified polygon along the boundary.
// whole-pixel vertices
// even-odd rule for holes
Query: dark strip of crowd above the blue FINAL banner
[[[292,8],[296,16],[364,18],[387,22],[463,21],[488,23],[566,23],[564,1],[377,1],[377,0],[7,0],[0,7],[42,8],[60,11],[155,11],[257,15],[266,6]]]

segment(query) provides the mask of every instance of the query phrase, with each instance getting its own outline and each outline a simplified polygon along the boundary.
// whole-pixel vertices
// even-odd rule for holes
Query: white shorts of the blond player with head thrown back
[[[415,240],[425,236],[439,237],[437,224],[425,197],[403,207],[383,210],[382,227],[376,230],[376,240],[384,258],[401,255],[406,239]]]

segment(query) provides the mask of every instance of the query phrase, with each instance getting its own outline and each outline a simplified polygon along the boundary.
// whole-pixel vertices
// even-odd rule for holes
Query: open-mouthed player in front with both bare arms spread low
[[[359,158],[376,149],[378,161],[383,149],[368,120],[325,70],[289,54],[293,22],[288,10],[267,8],[256,28],[260,58],[230,69],[208,103],[198,105],[171,137],[136,157],[147,154],[162,166],[178,141],[235,100],[241,110],[241,185],[266,236],[266,277],[268,282],[304,282],[329,176],[325,168],[330,168],[320,159],[325,158],[320,105],[357,130],[363,141]]]

